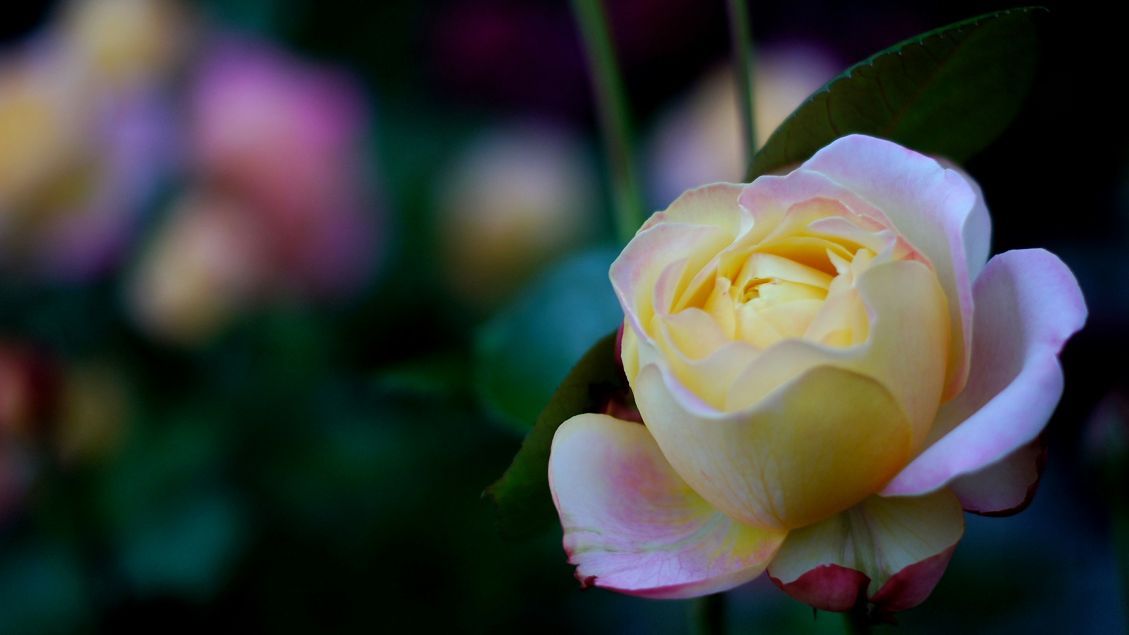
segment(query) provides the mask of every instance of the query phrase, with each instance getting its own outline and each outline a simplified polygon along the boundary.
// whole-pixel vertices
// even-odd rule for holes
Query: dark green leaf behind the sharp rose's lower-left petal
[[[537,417],[533,432],[498,482],[485,494],[498,508],[498,532],[504,538],[527,538],[557,522],[549,493],[549,450],[553,435],[569,418],[593,411],[613,390],[625,390],[615,364],[615,333],[603,338],[564,377]]]

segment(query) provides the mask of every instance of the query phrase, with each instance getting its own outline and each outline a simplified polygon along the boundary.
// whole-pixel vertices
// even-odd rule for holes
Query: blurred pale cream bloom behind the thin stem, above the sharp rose
[[[788,42],[756,51],[756,146],[842,66],[815,44]],[[658,120],[650,149],[653,202],[665,207],[683,191],[745,180],[733,71],[711,71]]]

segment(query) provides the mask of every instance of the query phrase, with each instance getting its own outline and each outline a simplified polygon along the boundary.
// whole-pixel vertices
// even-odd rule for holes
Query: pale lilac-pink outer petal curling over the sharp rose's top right
[[[935,159],[891,141],[863,134],[842,137],[805,162],[876,206],[933,262],[949,298],[953,337],[945,399],[968,377],[972,347],[972,273],[991,232],[982,197],[969,179]],[[965,237],[973,241],[965,246]],[[981,261],[982,262],[982,261]]]

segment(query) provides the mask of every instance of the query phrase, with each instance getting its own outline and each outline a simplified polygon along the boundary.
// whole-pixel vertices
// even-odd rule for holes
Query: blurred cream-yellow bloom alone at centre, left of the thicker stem
[[[483,132],[441,179],[452,292],[485,310],[594,233],[597,182],[581,140],[548,123]]]

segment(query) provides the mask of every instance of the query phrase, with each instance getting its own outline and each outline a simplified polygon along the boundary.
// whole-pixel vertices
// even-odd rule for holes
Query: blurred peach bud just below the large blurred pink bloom
[[[150,336],[194,345],[253,306],[270,280],[269,241],[237,199],[190,192],[142,255],[129,308]]]

